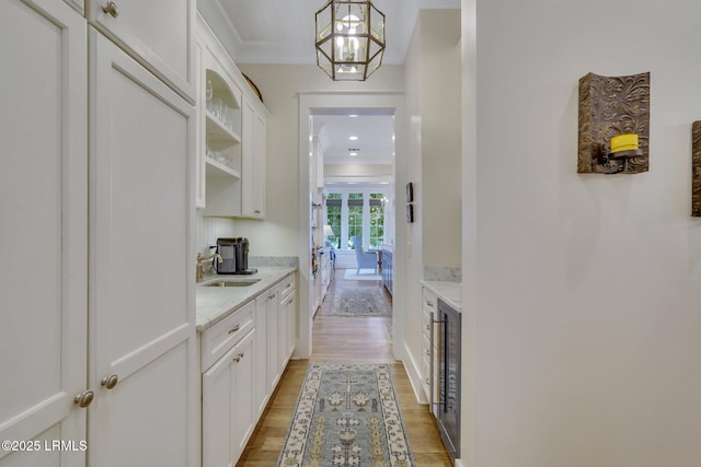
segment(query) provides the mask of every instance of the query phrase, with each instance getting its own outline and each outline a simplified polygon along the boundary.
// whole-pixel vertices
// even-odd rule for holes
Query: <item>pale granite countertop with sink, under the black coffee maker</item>
[[[207,276],[195,287],[195,308],[197,314],[197,330],[199,332],[219,323],[231,313],[255,299],[264,290],[280,281],[297,267],[291,266],[258,266],[254,275]],[[206,287],[218,281],[251,281],[258,282],[248,287]]]

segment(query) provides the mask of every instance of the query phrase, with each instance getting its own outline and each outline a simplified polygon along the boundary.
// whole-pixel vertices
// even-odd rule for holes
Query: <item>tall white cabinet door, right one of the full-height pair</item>
[[[89,46],[89,460],[194,466],[194,107],[94,30]]]

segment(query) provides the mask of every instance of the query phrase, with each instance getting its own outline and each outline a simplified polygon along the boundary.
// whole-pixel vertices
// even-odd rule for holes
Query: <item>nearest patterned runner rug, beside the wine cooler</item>
[[[386,364],[310,363],[278,467],[411,467]]]

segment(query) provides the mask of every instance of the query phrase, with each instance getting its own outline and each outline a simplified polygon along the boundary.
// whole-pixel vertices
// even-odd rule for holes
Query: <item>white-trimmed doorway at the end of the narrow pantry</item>
[[[323,226],[326,223],[325,217],[325,203],[329,192],[337,192],[343,197],[342,192],[346,194],[346,197],[349,198],[352,194],[356,195],[355,199],[358,199],[357,195],[367,191],[365,199],[361,201],[369,208],[371,191],[383,192],[383,199],[381,202],[384,202],[386,206],[388,202],[392,202],[390,206],[390,215],[384,215],[384,225],[383,225],[383,234],[387,234],[388,243],[394,249],[394,257],[399,260],[395,260],[394,270],[399,273],[395,275],[393,284],[394,284],[394,293],[393,293],[393,308],[394,313],[392,313],[391,317],[391,329],[392,329],[392,352],[395,359],[404,360],[405,351],[403,339],[403,313],[405,310],[403,305],[403,275],[401,258],[403,257],[403,243],[404,243],[404,232],[403,230],[398,229],[398,215],[394,214],[397,211],[393,206],[393,200],[397,199],[398,189],[397,186],[403,187],[404,179],[404,166],[402,164],[402,153],[403,153],[403,129],[404,129],[404,116],[403,116],[403,94],[401,93],[337,93],[337,94],[319,94],[319,93],[309,93],[309,94],[300,94],[300,108],[299,108],[299,121],[300,121],[300,170],[299,170],[299,186],[302,187],[300,189],[300,205],[301,206],[310,206],[309,210],[302,209],[300,210],[300,229],[302,232],[306,230],[304,226],[309,226],[308,235],[300,235],[300,245],[299,245],[299,257],[300,264],[312,265],[314,246],[319,244],[324,244],[326,238],[323,236]],[[356,115],[357,117],[352,117],[352,115]],[[393,151],[390,154],[384,154],[391,161],[391,171],[389,173],[380,174],[382,170],[378,167],[374,167],[375,170],[368,170],[366,167],[365,172],[359,170],[358,167],[364,165],[359,163],[364,160],[364,157],[369,157],[370,151],[366,151],[367,154],[356,153],[350,155],[354,149],[360,144],[353,144],[354,140],[348,139],[347,144],[341,149],[336,149],[334,151],[329,150],[329,154],[331,159],[335,159],[340,166],[348,166],[355,165],[355,173],[344,173],[341,167],[332,172],[331,174],[323,175],[323,162],[320,162],[318,157],[314,157],[315,151],[319,150],[315,144],[320,144],[320,141],[315,139],[314,129],[322,126],[329,126],[329,128],[334,127],[336,119],[348,119],[348,118],[363,118],[363,117],[386,117],[392,121],[393,133],[388,136],[388,138],[392,139]],[[317,121],[315,121],[317,120]],[[380,121],[380,120],[376,120]],[[346,120],[347,121],[347,120]],[[360,121],[360,120],[358,120]],[[321,122],[321,125],[320,125]],[[350,127],[349,124],[345,125],[346,127]],[[344,124],[338,125],[340,128],[344,127]],[[318,137],[319,135],[317,135]],[[348,135],[349,138],[353,135]],[[355,140],[357,141],[357,140]],[[341,151],[341,152],[338,152]],[[346,153],[344,153],[346,151]],[[356,161],[358,163],[354,163],[355,161],[350,161],[349,157],[357,157]],[[367,159],[366,159],[367,160]],[[383,162],[387,162],[384,160]],[[388,165],[388,164],[377,164],[377,165]],[[347,168],[347,167],[346,167]],[[387,172],[387,171],[384,171]],[[375,177],[375,178],[374,178]],[[320,182],[321,180],[321,182]],[[355,185],[354,185],[355,184]],[[363,185],[366,185],[360,189]],[[327,185],[327,187],[326,187]],[[352,187],[357,187],[355,190]],[[303,187],[309,187],[308,190],[304,190]],[[321,190],[320,190],[321,187]],[[403,188],[402,188],[403,191]],[[343,198],[342,198],[343,199]],[[356,201],[356,205],[358,202]],[[347,209],[347,203],[346,208]],[[347,213],[345,213],[347,215]],[[347,218],[346,218],[347,219]],[[363,243],[365,247],[368,248],[371,246],[372,234],[377,233],[371,230],[369,223],[363,223],[358,225],[357,215],[355,220],[355,224],[350,225],[348,221],[346,221],[346,225],[340,224],[336,226],[334,231],[334,235],[330,238],[335,242],[335,245],[338,249],[338,253],[343,255],[354,255],[355,253],[350,249],[350,235],[353,233],[360,233],[359,236],[363,237]],[[376,235],[377,236],[377,235]],[[318,242],[315,244],[315,242]],[[338,258],[338,257],[337,257]],[[307,261],[304,261],[307,259]],[[347,258],[346,258],[347,259]],[[341,258],[343,261],[343,258]],[[314,288],[315,278],[314,271],[312,268],[307,270],[306,267],[300,267],[300,307],[299,307],[299,340],[298,340],[298,351],[297,357],[299,358],[308,358],[311,355],[312,351],[312,341],[313,341],[313,316],[314,312],[319,303],[315,302],[315,293],[317,290]],[[398,338],[399,337],[399,338]]]

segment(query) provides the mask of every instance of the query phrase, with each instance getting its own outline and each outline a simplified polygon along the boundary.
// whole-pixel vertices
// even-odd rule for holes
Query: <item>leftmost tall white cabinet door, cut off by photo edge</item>
[[[85,21],[56,0],[0,2],[0,466],[83,466],[88,93]],[[49,444],[50,445],[50,444]]]

